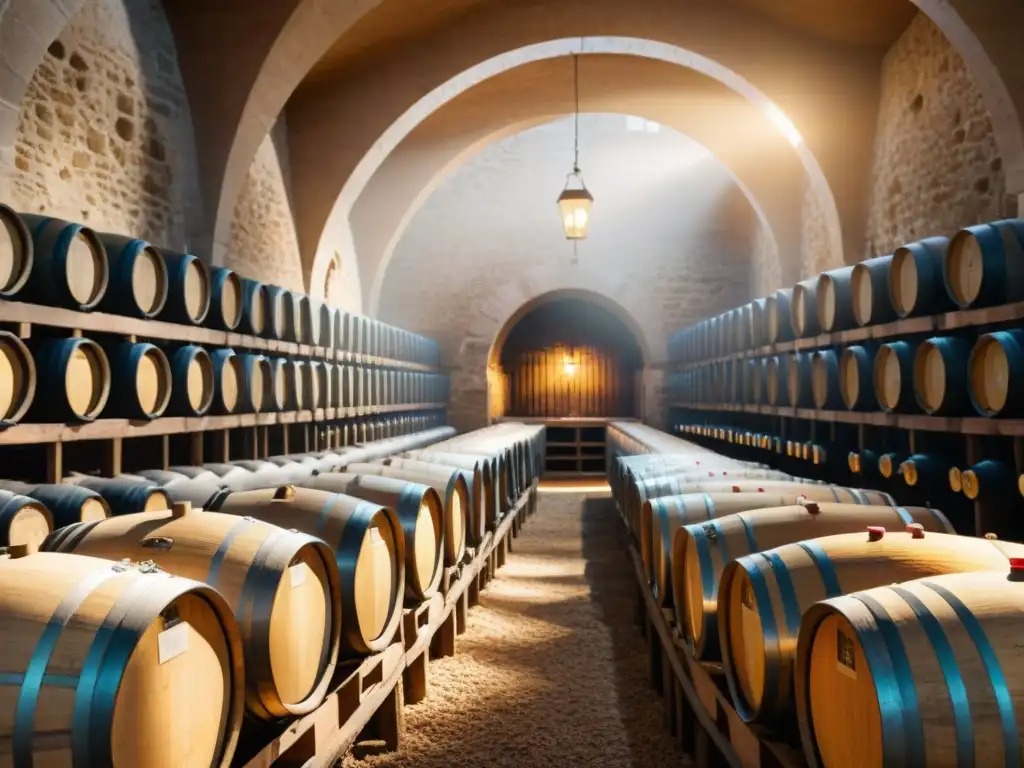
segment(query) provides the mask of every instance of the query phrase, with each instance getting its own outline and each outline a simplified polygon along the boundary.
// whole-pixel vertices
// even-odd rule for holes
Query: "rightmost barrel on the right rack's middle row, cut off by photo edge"
[[[978,337],[968,359],[971,402],[982,416],[1024,414],[1024,331]]]

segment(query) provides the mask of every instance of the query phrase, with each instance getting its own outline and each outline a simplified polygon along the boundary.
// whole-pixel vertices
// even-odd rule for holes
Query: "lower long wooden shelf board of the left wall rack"
[[[231,416],[168,417],[153,421],[130,419],[97,419],[89,424],[17,424],[0,431],[0,445],[24,445],[43,442],[75,442],[116,437],[150,437],[153,435],[205,432],[213,429],[265,427],[275,424],[308,424],[352,419],[359,416],[400,414],[414,411],[440,411],[444,402],[402,406],[367,406],[362,408],[328,408],[315,411],[286,413],[234,414]]]

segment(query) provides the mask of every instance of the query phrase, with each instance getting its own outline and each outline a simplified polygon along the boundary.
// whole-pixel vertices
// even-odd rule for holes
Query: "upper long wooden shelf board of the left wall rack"
[[[28,304],[18,301],[0,301],[0,323],[18,325],[20,327],[19,333],[23,337],[29,336],[32,326],[46,326],[49,328],[66,328],[72,331],[88,333],[180,341],[210,347],[254,349],[276,354],[318,357],[335,362],[394,368],[419,373],[437,373],[436,369],[419,362],[388,359],[348,352],[343,349],[263,339],[258,336],[217,331],[199,326],[124,317],[119,314],[106,314],[105,312],[77,312],[73,309]]]

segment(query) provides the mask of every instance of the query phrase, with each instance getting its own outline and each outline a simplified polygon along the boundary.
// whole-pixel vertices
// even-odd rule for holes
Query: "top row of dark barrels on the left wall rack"
[[[206,326],[435,368],[436,342],[190,254],[0,205],[0,298]]]

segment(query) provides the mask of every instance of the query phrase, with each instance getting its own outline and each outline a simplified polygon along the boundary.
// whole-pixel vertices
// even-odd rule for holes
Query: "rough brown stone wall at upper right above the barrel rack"
[[[1016,214],[981,93],[922,14],[883,65],[871,188],[871,255]]]

